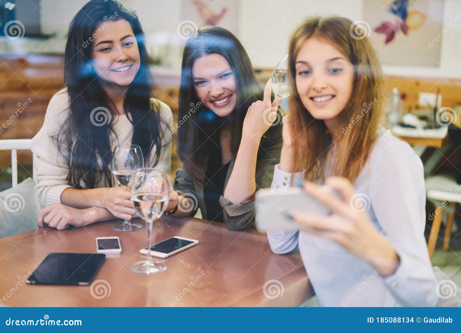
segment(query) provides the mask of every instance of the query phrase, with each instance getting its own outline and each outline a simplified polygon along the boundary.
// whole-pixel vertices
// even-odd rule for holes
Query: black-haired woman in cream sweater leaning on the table
[[[32,140],[38,225],[59,230],[135,210],[114,187],[113,148],[141,147],[146,167],[170,171],[172,115],[153,98],[145,36],[134,12],[116,0],[87,2],[73,18],[65,47],[66,88],[51,99]]]

